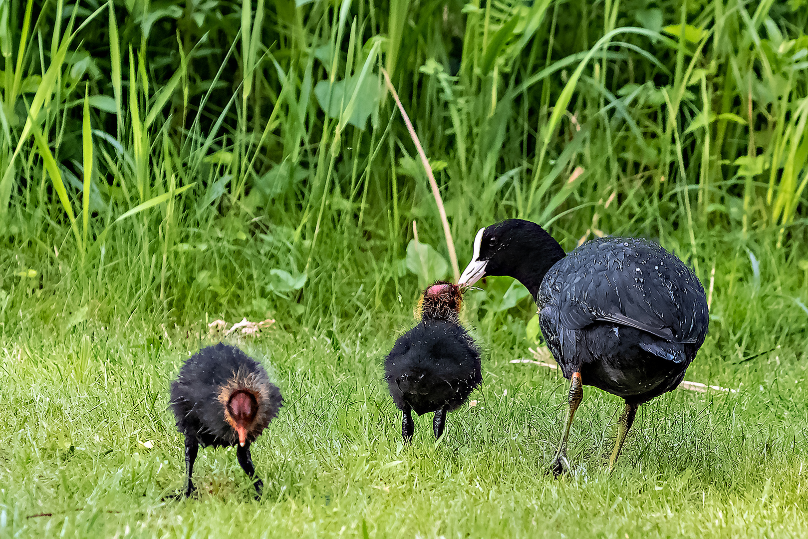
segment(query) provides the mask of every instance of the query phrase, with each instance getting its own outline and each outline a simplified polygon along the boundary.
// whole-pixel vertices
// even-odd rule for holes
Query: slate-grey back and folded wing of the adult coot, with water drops
[[[699,344],[707,333],[699,280],[680,259],[641,239],[602,238],[580,246],[550,269],[540,296],[542,311],[554,311],[566,330],[612,322],[671,343]]]

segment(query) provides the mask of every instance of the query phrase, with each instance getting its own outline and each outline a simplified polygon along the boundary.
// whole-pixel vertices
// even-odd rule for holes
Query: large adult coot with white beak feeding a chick
[[[571,381],[554,474],[570,468],[566,443],[582,385],[625,399],[611,472],[638,406],[675,389],[704,343],[709,316],[701,282],[654,242],[598,238],[565,255],[545,229],[520,219],[477,233],[459,284],[486,275],[511,276],[528,288],[541,333]]]

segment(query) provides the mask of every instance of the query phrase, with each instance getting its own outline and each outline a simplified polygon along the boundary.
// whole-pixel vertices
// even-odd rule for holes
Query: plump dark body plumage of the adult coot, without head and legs
[[[642,404],[679,385],[707,335],[693,272],[654,242],[598,238],[542,280],[539,324],[564,376]],[[579,343],[581,341],[581,343]]]

